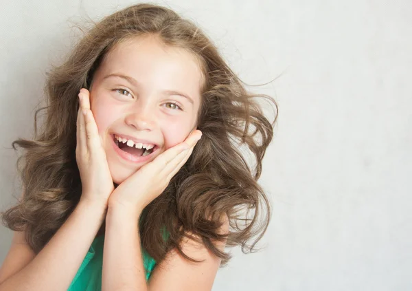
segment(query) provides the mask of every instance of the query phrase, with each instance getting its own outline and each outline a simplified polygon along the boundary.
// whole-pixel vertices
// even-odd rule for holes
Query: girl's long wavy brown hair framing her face
[[[1,213],[3,224],[25,230],[27,244],[37,254],[72,213],[82,192],[76,163],[78,91],[90,88],[95,70],[115,45],[144,34],[155,34],[165,45],[196,56],[204,83],[198,114],[203,136],[165,191],[144,209],[139,228],[142,248],[157,262],[173,248],[196,261],[181,248],[183,239],[190,237],[220,257],[224,266],[231,255],[219,250],[214,241],[253,252],[270,221],[270,202],[257,181],[273,138],[277,103],[271,96],[247,91],[192,21],[148,3],[129,6],[94,23],[64,63],[46,73],[47,106],[34,114],[34,138],[12,142],[15,151],[15,145],[25,149],[16,162],[24,195],[19,204]],[[259,103],[263,99],[276,109],[273,122],[263,114]],[[45,120],[38,132],[37,115],[44,109]],[[254,167],[242,155],[242,146],[253,153]],[[219,233],[222,215],[229,218],[226,235]],[[166,240],[163,228],[168,232]]]

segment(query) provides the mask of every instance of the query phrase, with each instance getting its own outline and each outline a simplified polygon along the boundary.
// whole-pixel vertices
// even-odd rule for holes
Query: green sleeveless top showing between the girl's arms
[[[67,291],[101,291],[103,266],[104,235],[93,240],[86,257]],[[156,261],[146,251],[143,251],[143,264],[146,272],[146,281],[155,268]]]

